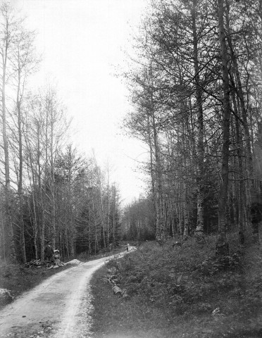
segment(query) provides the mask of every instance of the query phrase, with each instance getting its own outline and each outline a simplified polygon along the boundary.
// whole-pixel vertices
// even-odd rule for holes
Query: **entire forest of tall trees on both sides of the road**
[[[68,142],[70,118],[51,85],[27,88],[37,72],[35,32],[0,8],[0,256],[44,260],[91,254],[119,239],[227,232],[244,242],[261,220],[262,4],[260,0],[151,0],[133,39],[132,109],[124,127],[141,140],[149,189],[122,208],[110,170]],[[83,42],[85,43],[85,42]],[[127,177],[128,179],[128,177]]]

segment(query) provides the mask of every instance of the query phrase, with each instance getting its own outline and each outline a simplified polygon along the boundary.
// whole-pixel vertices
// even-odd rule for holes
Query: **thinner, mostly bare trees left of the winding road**
[[[30,91],[35,32],[6,2],[0,7],[0,257],[44,261],[51,241],[63,258],[116,244],[120,196],[109,168],[70,143],[70,118],[50,85]],[[109,165],[108,165],[109,167]]]

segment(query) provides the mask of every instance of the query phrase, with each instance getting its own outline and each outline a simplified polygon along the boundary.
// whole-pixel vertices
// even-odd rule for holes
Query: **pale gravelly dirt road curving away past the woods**
[[[53,275],[0,312],[0,337],[89,337],[89,280],[107,258]]]

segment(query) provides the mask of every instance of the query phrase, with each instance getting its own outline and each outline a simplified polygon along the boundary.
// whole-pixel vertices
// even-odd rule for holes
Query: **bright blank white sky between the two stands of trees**
[[[13,0],[37,32],[42,54],[34,86],[53,82],[73,116],[73,143],[87,156],[94,153],[102,168],[109,163],[123,203],[144,192],[137,164],[147,151],[126,137],[120,124],[131,107],[127,89],[116,77],[125,64],[147,0]]]

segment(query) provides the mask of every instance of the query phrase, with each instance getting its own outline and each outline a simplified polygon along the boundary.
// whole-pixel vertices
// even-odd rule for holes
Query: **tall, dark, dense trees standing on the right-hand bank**
[[[125,210],[129,237],[229,231],[244,242],[261,220],[262,3],[152,0],[124,73],[142,140],[148,196]],[[155,219],[152,219],[154,210]]]

